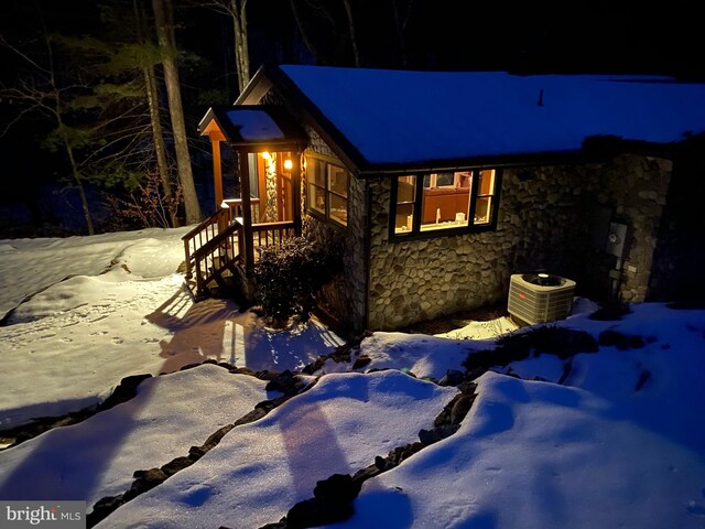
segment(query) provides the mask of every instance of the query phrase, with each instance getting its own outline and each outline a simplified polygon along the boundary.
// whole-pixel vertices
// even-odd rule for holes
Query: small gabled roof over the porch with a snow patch
[[[282,107],[269,105],[210,107],[198,123],[198,132],[236,148],[284,148],[306,141],[301,126]]]

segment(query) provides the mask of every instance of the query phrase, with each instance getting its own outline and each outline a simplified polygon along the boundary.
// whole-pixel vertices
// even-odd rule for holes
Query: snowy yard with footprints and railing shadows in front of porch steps
[[[192,303],[176,273],[186,230],[0,240],[0,307],[12,311],[0,327],[0,429],[97,403],[130,375],[208,358],[283,371],[343,343],[315,323],[273,333],[230,301]]]

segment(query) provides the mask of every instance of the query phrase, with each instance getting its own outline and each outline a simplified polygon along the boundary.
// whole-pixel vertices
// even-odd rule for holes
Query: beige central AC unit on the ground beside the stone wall
[[[507,312],[519,324],[563,320],[573,310],[575,281],[550,273],[514,273],[509,282]]]

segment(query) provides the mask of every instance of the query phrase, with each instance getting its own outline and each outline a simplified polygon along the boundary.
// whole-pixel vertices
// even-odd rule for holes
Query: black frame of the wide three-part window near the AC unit
[[[479,234],[484,231],[495,231],[497,229],[497,217],[499,215],[499,202],[500,202],[500,191],[501,191],[501,182],[502,182],[502,170],[500,168],[467,168],[467,169],[456,169],[454,172],[479,172],[479,171],[495,171],[495,187],[494,193],[491,195],[480,195],[479,194],[479,177],[473,177],[473,185],[470,187],[470,194],[468,197],[468,215],[467,215],[467,224],[463,226],[452,227],[452,228],[443,228],[443,229],[431,229],[422,231],[421,229],[421,220],[422,220],[422,206],[423,206],[423,179],[432,174],[431,171],[416,172],[416,173],[408,173],[408,174],[399,174],[392,177],[391,193],[390,193],[390,213],[389,213],[389,240],[390,242],[402,242],[408,240],[422,240],[422,239],[434,239],[438,237],[449,237],[456,235],[464,234]],[[412,218],[412,227],[410,231],[405,233],[397,233],[395,230],[395,220],[397,220],[397,205],[399,201],[399,177],[400,176],[413,176],[415,177],[414,182],[414,201],[413,201],[413,218]],[[470,222],[471,218],[475,218],[475,208],[477,207],[477,199],[491,196],[490,202],[490,222],[485,224],[475,224]]]

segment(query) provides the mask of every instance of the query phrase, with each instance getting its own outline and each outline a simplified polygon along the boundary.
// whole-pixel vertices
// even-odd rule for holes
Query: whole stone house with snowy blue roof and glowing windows
[[[597,301],[705,299],[705,85],[263,67],[199,130],[216,190],[221,142],[249,175],[218,204],[341,253],[321,302],[355,330],[505,303],[529,271]]]

